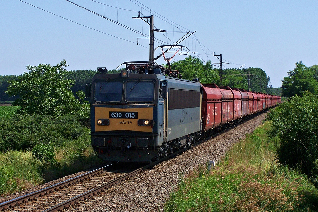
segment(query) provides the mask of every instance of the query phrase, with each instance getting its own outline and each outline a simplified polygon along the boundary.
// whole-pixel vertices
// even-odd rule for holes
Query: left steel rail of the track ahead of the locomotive
[[[49,187],[47,187],[47,188],[43,188],[43,189],[41,189],[41,190],[32,192],[32,193],[30,193],[30,194],[27,194],[27,195],[24,195],[24,196],[20,196],[20,197],[17,197],[17,198],[15,198],[15,199],[12,199],[12,200],[3,202],[3,203],[0,204],[0,211],[2,211],[3,209],[7,209],[7,208],[9,208],[10,206],[15,206],[16,204],[25,202],[25,201],[27,201],[27,200],[29,200],[29,199],[33,199],[34,197],[48,194],[48,193],[50,193],[51,191],[54,191],[55,189],[58,189],[58,188],[61,188],[61,187],[70,185],[70,184],[72,184],[73,182],[76,182],[76,181],[85,179],[85,178],[90,177],[90,176],[95,175],[95,174],[98,174],[98,173],[104,171],[106,167],[111,166],[111,165],[112,165],[112,164],[109,164],[109,165],[104,166],[104,167],[102,167],[102,168],[98,168],[98,169],[96,169],[96,170],[87,172],[87,173],[82,174],[82,175],[79,175],[79,176],[77,176],[77,177],[73,177],[73,178],[71,178],[71,179],[69,179],[69,180],[66,180],[66,181],[57,183],[57,184],[52,185],[52,186],[49,186]]]

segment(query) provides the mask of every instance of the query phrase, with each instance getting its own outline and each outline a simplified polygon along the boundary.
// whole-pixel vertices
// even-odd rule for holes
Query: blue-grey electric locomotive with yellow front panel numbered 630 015
[[[98,68],[86,85],[91,144],[99,157],[151,162],[201,138],[203,91],[197,80],[176,78],[178,72],[167,73],[154,62],[124,64],[121,73]]]

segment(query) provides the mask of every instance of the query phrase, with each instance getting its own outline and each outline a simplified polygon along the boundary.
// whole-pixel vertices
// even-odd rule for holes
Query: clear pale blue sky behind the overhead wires
[[[125,61],[149,59],[149,40],[138,39],[141,45],[136,45],[136,38],[142,35],[66,0],[24,1],[132,42],[75,24],[19,0],[0,0],[0,75],[20,75],[27,71],[26,65],[56,65],[63,59],[69,65],[67,70],[96,70],[97,67],[105,66],[114,69]],[[184,35],[180,31],[197,31],[196,37],[192,36],[182,43],[190,51],[197,51],[204,61],[210,59],[214,63],[218,59],[213,52],[222,54],[223,62],[229,62],[224,64],[224,68],[239,68],[243,64],[246,64],[246,68],[262,68],[270,77],[270,85],[275,87],[281,85],[280,80],[294,69],[296,62],[302,61],[307,66],[318,63],[316,0],[73,2],[143,32],[146,36],[149,34],[149,25],[132,17],[138,15],[137,11],[144,16],[153,14],[155,28],[169,31],[155,32],[155,38],[169,44]],[[126,10],[104,6],[104,3]],[[158,17],[157,13],[169,20]],[[161,45],[157,41],[155,47]],[[160,53],[156,52],[155,56]],[[184,57],[176,55],[175,59]],[[156,62],[164,63],[162,58]]]

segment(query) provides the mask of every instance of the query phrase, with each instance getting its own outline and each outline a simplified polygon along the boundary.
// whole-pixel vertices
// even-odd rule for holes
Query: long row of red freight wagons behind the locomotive
[[[280,103],[280,96],[215,84],[202,86],[204,131]]]

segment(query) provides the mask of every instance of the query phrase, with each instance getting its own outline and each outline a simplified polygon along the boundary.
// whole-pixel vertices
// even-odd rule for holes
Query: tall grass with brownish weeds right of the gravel
[[[270,128],[267,121],[247,135],[211,171],[198,167],[180,179],[165,211],[317,211],[317,189],[276,163]]]

